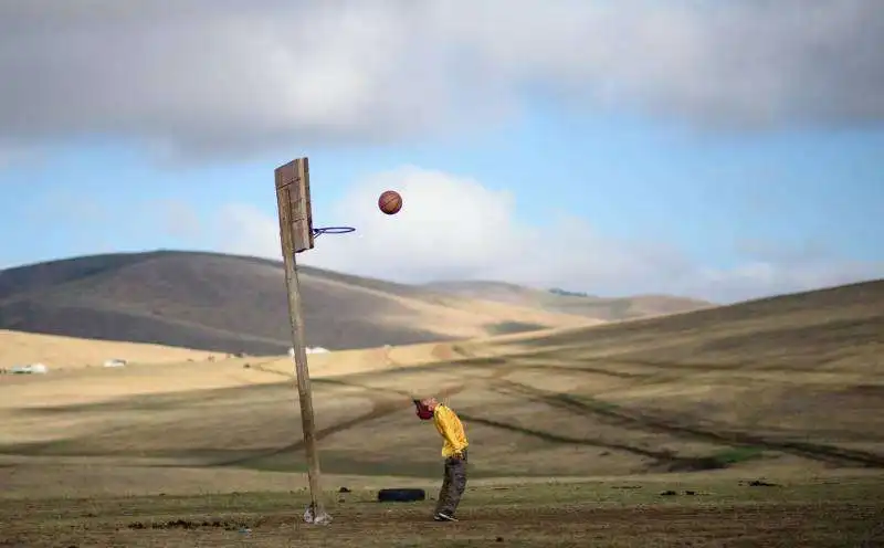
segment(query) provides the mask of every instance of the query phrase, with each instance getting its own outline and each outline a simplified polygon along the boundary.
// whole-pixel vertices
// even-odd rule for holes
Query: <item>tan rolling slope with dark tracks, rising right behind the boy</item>
[[[332,485],[425,485],[439,472],[438,439],[409,398],[436,393],[466,424],[480,481],[880,474],[882,348],[884,282],[873,282],[598,327],[333,352],[312,362],[323,471]],[[291,375],[287,359],[231,359],[9,378],[7,496],[294,488],[305,465]]]

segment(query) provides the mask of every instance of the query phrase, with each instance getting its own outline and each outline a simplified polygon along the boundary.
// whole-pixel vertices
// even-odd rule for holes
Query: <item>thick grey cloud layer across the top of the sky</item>
[[[378,143],[526,89],[701,128],[881,124],[882,52],[869,0],[0,2],[0,140]]]

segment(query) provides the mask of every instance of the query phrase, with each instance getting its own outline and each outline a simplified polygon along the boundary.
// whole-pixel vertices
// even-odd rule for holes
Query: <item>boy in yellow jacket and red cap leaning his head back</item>
[[[466,432],[457,414],[448,405],[439,403],[435,398],[414,400],[418,417],[422,421],[433,420],[435,429],[442,435],[442,456],[445,459],[445,475],[433,519],[436,521],[456,521],[454,512],[461,503],[466,488]]]

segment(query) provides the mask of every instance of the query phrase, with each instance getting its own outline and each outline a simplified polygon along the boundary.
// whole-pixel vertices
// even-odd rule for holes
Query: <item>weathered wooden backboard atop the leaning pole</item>
[[[307,158],[297,158],[276,168],[276,204],[280,208],[280,236],[284,253],[313,249],[311,170]],[[288,241],[291,238],[291,241]]]

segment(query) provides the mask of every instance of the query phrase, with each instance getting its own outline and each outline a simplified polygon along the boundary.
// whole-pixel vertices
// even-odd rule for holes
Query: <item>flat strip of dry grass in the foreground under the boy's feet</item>
[[[672,491],[662,495],[661,489]],[[865,478],[751,487],[703,477],[471,487],[461,521],[430,503],[383,505],[329,494],[334,521],[301,523],[299,493],[0,503],[12,546],[877,546],[882,491]],[[878,527],[876,529],[876,527]],[[874,544],[873,544],[874,542]]]

